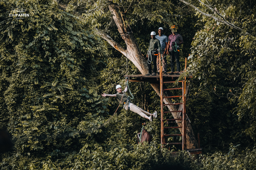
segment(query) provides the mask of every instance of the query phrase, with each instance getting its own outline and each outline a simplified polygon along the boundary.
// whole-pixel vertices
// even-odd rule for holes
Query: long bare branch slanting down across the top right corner
[[[199,10],[196,6],[194,6],[194,5],[192,5],[192,4],[188,3],[188,2],[186,2],[186,1],[184,1],[184,0],[180,0],[180,1],[183,2],[184,4],[187,4],[187,5],[191,6],[191,7],[194,8],[196,11],[200,12],[201,14],[203,14],[204,16],[211,17],[211,18],[215,19],[216,21],[220,21],[220,22],[222,22],[223,24],[226,24],[227,26],[230,26],[230,27],[232,27],[232,28],[235,28],[235,29],[237,29],[237,30],[239,30],[239,31],[244,31],[242,28],[239,28],[238,26],[235,26],[235,25],[231,24],[230,22],[228,22],[228,21],[226,21],[226,20],[222,20],[222,19],[219,19],[219,18],[216,18],[216,17],[212,16],[211,14],[206,14],[206,13],[204,13],[203,11]],[[204,5],[205,5],[205,4],[204,4]],[[208,7],[208,5],[206,5],[206,6]],[[210,9],[211,9],[211,8],[210,8]],[[221,18],[223,18],[217,10],[215,10],[215,11],[217,12],[217,14],[218,14]],[[244,32],[245,32],[246,35],[247,35],[247,34],[248,34],[248,35],[251,35],[250,33],[246,32],[246,31],[244,31]],[[252,36],[252,35],[251,35],[251,36]]]

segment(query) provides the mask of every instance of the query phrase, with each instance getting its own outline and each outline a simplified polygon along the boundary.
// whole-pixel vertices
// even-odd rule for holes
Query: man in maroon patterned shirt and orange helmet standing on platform
[[[183,44],[183,39],[180,34],[177,33],[177,27],[172,26],[172,34],[168,37],[167,55],[171,55],[171,73],[174,74],[174,58],[176,59],[177,73],[180,74],[180,44]]]

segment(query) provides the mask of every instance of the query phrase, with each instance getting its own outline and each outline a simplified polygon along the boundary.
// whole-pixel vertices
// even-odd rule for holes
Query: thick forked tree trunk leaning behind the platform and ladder
[[[130,29],[130,26],[125,24],[124,17],[121,16],[121,13],[119,12],[119,9],[115,5],[109,5],[109,10],[113,14],[113,19],[116,23],[116,26],[118,28],[119,33],[121,34],[122,38],[124,39],[127,49],[125,50],[120,44],[116,43],[111,37],[109,37],[107,34],[100,32],[100,36],[104,38],[106,41],[109,42],[111,46],[113,46],[116,50],[120,51],[124,56],[126,56],[129,60],[132,61],[132,63],[140,70],[141,74],[147,74],[148,73],[148,65],[146,60],[144,59],[143,55],[140,52],[139,46],[136,42],[136,39],[132,35],[132,30]],[[127,55],[126,55],[127,54]],[[160,85],[156,83],[151,83],[151,86],[156,91],[156,93],[160,96]],[[166,94],[165,94],[166,96]],[[164,98],[164,103],[169,104],[172,103],[169,98]],[[179,108],[176,108],[174,106],[168,106],[170,111],[178,110]],[[176,119],[177,114],[173,113],[173,117]],[[178,123],[179,126],[182,126],[182,123]],[[187,135],[187,149],[190,148],[197,148],[197,142],[195,139],[194,132],[192,130],[192,127],[189,123],[189,121],[186,121],[186,135]]]

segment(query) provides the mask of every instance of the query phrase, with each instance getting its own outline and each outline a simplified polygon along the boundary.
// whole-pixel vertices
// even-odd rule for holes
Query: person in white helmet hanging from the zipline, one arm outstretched
[[[144,117],[148,119],[150,122],[152,122],[153,118],[156,118],[157,112],[155,111],[154,114],[148,113],[147,111],[143,110],[142,108],[132,104],[131,102],[129,103],[129,97],[125,94],[127,92],[128,88],[127,86],[125,87],[124,91],[122,91],[122,86],[121,85],[116,85],[116,94],[106,94],[103,93],[101,96],[103,97],[115,97],[117,101],[119,101],[121,104],[124,104],[124,109],[128,111],[131,110],[134,113],[139,114],[141,117]],[[130,107],[130,108],[129,108]]]

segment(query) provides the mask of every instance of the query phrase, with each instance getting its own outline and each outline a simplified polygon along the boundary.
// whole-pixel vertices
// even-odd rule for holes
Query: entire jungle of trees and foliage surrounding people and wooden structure
[[[1,170],[256,169],[255,15],[255,0],[0,0]],[[186,110],[198,157],[160,149],[160,117],[144,126],[152,142],[138,144],[148,120],[122,106],[114,114],[119,103],[100,95],[145,73],[150,32],[168,36],[172,25],[181,70],[188,58],[181,76],[193,75]],[[132,103],[160,112],[156,84],[129,87]]]

